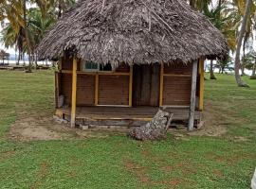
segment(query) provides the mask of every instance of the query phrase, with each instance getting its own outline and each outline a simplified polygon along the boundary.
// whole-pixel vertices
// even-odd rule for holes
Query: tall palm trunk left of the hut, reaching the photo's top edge
[[[23,0],[23,19],[24,19],[24,30],[25,30],[25,38],[27,43],[27,55],[28,55],[28,66],[27,72],[32,72],[32,63],[31,63],[31,46],[29,42],[28,30],[27,30],[27,0]]]

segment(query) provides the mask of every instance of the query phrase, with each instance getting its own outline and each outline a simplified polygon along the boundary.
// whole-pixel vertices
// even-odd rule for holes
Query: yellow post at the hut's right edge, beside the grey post
[[[199,62],[199,72],[200,72],[200,94],[199,94],[199,111],[204,110],[204,91],[205,91],[205,70],[204,70],[205,60],[202,58]]]

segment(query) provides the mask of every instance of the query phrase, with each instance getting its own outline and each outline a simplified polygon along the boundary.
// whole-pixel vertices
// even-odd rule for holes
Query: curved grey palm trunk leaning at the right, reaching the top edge
[[[245,83],[240,74],[239,74],[239,68],[240,68],[240,51],[241,51],[241,46],[244,38],[244,34],[246,32],[246,26],[247,26],[247,20],[248,20],[248,15],[250,13],[250,6],[251,6],[252,0],[247,0],[247,7],[245,11],[245,15],[243,18],[242,26],[241,26],[241,31],[238,37],[238,43],[237,43],[237,48],[236,48],[236,55],[235,55],[235,79],[236,83],[239,87],[248,87],[247,83]]]

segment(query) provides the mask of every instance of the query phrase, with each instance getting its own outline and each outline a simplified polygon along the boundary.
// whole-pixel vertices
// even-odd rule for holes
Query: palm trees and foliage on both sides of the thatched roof
[[[41,42],[46,30],[59,19],[64,10],[71,7],[76,0],[4,0],[0,2],[0,21],[6,23],[2,30],[2,43],[7,48],[14,47],[18,52],[18,62],[27,53],[28,68],[37,62],[36,47]],[[233,66],[239,86],[247,86],[240,77],[245,75],[247,67],[248,46],[253,40],[255,29],[256,6],[254,0],[190,0],[192,9],[202,12],[210,18],[211,23],[219,28],[226,37],[230,55],[235,60]],[[244,22],[243,22],[244,18]],[[240,56],[240,51],[243,51]],[[227,59],[230,60],[230,59]],[[210,61],[210,78],[215,79],[214,68],[220,62]],[[213,65],[214,64],[214,65]],[[230,67],[229,66],[229,67]],[[252,69],[253,66],[250,68]]]

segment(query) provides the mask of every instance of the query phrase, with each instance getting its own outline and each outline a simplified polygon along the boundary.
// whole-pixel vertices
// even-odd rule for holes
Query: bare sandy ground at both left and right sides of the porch
[[[22,112],[22,111],[21,111]],[[117,129],[71,129],[68,124],[58,124],[53,121],[50,115],[31,115],[30,113],[20,114],[19,119],[9,129],[9,138],[18,141],[38,140],[63,140],[68,138],[107,137],[115,134],[125,134],[126,130]],[[199,136],[222,136],[228,131],[227,125],[238,121],[229,112],[220,112],[214,109],[210,101],[206,104],[204,111],[205,124],[201,129],[188,133],[185,130],[171,129],[174,136],[181,140],[187,140],[186,135]],[[228,122],[229,121],[229,122]],[[242,120],[243,121],[243,120]],[[183,137],[184,136],[184,137]],[[242,139],[237,139],[242,141]],[[245,141],[245,139],[243,139]]]

